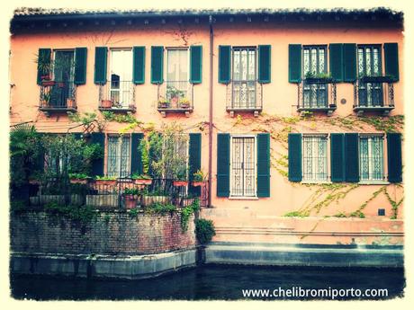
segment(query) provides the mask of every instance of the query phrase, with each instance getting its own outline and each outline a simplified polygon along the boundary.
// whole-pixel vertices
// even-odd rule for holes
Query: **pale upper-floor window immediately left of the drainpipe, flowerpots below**
[[[188,98],[188,49],[166,49],[166,99]]]

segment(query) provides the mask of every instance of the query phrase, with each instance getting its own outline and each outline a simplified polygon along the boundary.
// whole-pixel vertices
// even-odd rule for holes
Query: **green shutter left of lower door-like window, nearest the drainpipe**
[[[229,197],[230,135],[217,134],[217,197]]]

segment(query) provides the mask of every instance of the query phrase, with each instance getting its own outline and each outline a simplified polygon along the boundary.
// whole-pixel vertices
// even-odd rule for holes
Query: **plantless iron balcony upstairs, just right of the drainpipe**
[[[235,112],[253,112],[255,117],[262,111],[263,86],[257,81],[232,81],[227,85],[226,111],[230,117]]]

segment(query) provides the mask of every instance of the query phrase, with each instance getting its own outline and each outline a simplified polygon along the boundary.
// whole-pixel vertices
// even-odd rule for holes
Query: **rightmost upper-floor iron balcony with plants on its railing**
[[[365,76],[354,84],[354,111],[388,115],[394,109],[394,84],[387,76]]]

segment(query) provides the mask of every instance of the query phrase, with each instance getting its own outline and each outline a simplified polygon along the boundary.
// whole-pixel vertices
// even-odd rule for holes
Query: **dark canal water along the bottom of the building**
[[[155,279],[113,280],[11,276],[12,297],[35,300],[236,300],[331,299],[331,297],[243,297],[242,289],[386,288],[390,299],[402,297],[403,269],[261,267],[202,265]],[[279,294],[279,293],[277,293]],[[287,293],[285,293],[287,294]]]

